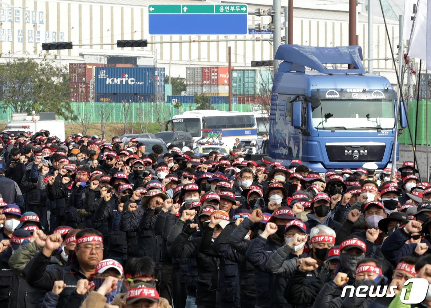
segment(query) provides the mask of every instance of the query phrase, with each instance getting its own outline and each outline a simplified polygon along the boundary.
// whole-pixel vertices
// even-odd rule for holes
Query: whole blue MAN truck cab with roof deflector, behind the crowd
[[[281,45],[275,59],[283,62],[272,88],[272,158],[286,166],[300,159],[318,172],[391,164],[396,93],[386,78],[365,73],[360,46]],[[400,126],[406,121],[401,106]]]

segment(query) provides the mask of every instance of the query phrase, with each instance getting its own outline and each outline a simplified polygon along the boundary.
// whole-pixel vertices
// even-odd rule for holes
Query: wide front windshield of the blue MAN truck
[[[312,111],[318,129],[393,129],[393,100],[322,100]]]

